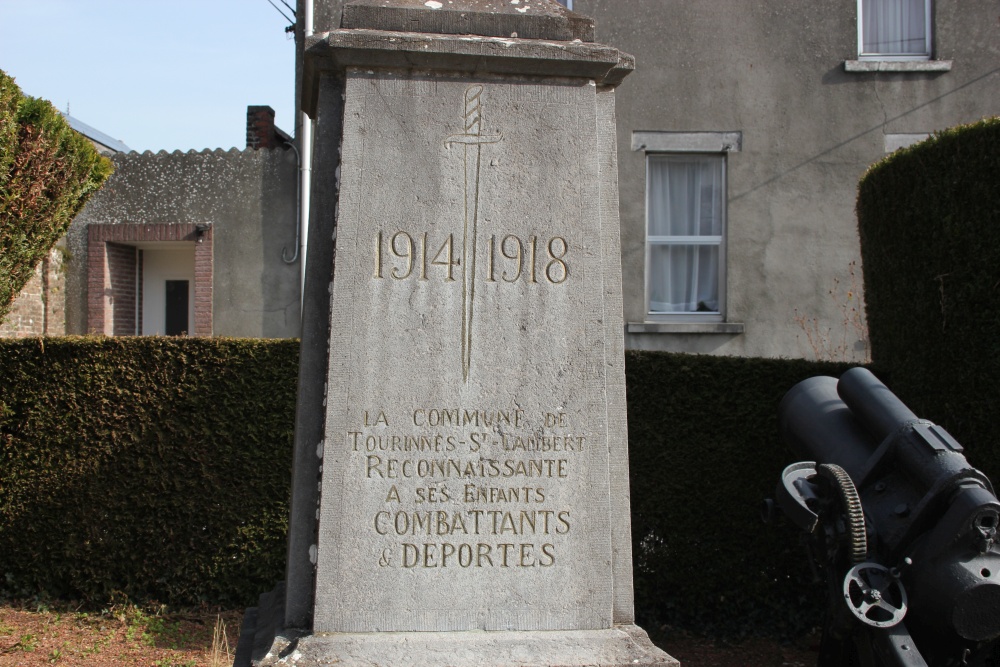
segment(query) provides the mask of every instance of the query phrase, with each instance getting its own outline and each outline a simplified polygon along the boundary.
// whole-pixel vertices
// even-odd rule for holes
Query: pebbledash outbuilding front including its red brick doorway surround
[[[115,173],[66,236],[74,258],[67,333],[149,329],[143,267],[152,269],[152,254],[175,252],[193,254],[186,333],[299,335],[300,267],[285,261],[296,245],[293,150],[147,151],[113,160]]]

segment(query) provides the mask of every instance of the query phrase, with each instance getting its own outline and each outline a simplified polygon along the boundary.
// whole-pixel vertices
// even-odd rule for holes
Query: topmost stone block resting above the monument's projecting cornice
[[[341,27],[594,41],[594,20],[554,0],[348,0]]]

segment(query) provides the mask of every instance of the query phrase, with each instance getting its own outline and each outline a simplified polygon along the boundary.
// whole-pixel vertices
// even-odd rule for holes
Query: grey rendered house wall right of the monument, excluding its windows
[[[796,316],[844,332],[838,303],[860,262],[856,186],[885,154],[885,135],[1000,109],[996,2],[934,4],[934,57],[952,60],[951,71],[848,73],[856,0],[575,1],[596,18],[598,41],[636,57],[618,88],[627,322],[644,315],[645,160],[632,132],[743,133],[728,158],[727,321],[745,332],[629,334],[630,348],[811,358]],[[847,356],[859,358],[850,327],[847,337]]]

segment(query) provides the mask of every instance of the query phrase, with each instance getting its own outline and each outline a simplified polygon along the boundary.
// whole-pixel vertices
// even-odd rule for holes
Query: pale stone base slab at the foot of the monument
[[[665,667],[680,663],[656,648],[635,625],[609,630],[509,632],[370,632],[279,634],[272,649],[254,665],[349,667]]]

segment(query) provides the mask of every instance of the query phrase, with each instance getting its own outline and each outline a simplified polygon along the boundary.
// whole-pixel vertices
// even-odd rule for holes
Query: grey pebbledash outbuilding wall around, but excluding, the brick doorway
[[[213,333],[299,335],[296,161],[291,150],[126,153],[67,234],[69,333],[87,330],[87,224],[211,223]]]

